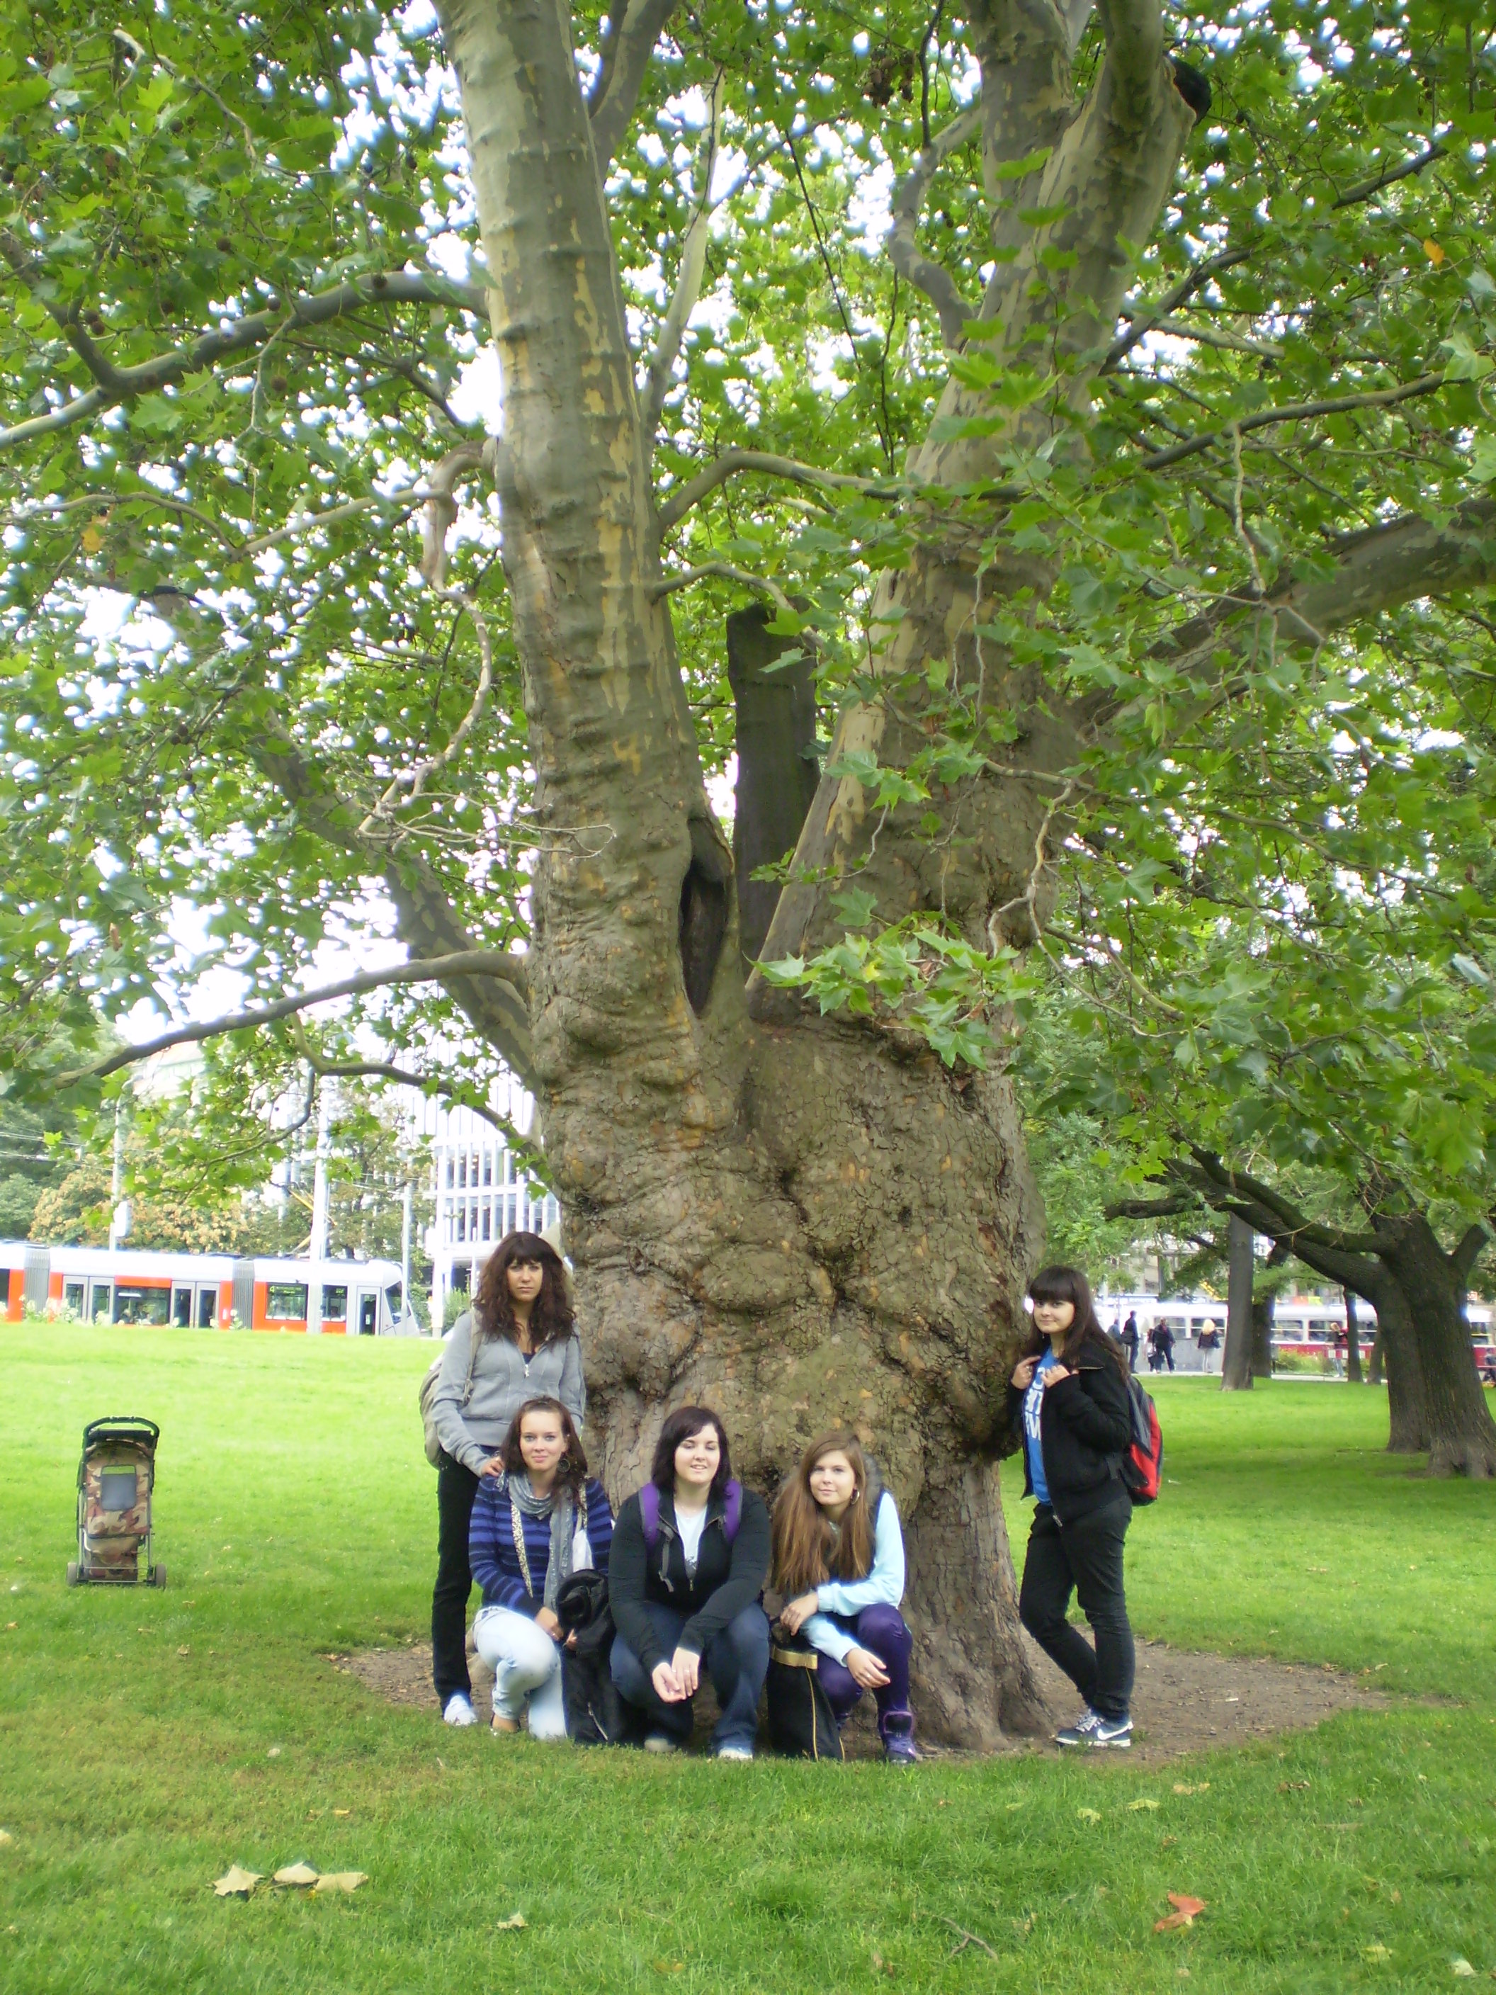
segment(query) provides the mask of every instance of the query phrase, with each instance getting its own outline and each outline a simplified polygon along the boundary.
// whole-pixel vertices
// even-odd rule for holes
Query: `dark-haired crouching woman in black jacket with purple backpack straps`
[[[608,1602],[612,1682],[644,1714],[646,1752],[690,1740],[702,1660],[722,1716],[718,1760],[752,1760],[768,1676],[768,1508],[732,1480],[726,1428],[680,1406],[660,1428],[644,1488],[618,1510]]]

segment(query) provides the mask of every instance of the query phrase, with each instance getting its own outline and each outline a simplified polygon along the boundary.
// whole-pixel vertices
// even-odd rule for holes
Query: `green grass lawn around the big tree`
[[[425,1634],[425,1345],[4,1327],[0,1363],[4,1991],[1402,1995],[1496,1969],[1496,1488],[1410,1480],[1380,1393],[1161,1385],[1135,1622],[1458,1702],[1167,1770],[896,1774],[499,1744],[333,1672]],[[162,1422],[166,1592],[64,1586],[104,1412]],[[295,1857],[371,1881],[211,1895]],[[1207,1899],[1191,1931],[1153,1931],[1167,1891]],[[945,1921],[995,1957],[951,1957]]]

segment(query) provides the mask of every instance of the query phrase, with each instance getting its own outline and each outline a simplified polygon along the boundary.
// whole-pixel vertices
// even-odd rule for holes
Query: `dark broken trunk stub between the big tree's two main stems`
[[[778,882],[754,880],[754,872],[794,852],[820,782],[812,660],[804,654],[794,664],[776,666],[794,644],[774,636],[770,622],[772,612],[762,604],[728,616],[728,682],[738,742],[732,862],[744,970],[758,962],[780,898]]]

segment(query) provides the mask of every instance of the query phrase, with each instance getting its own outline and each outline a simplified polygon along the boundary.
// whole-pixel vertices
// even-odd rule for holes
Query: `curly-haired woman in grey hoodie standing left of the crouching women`
[[[527,1398],[557,1398],[580,1426],[582,1345],[566,1269],[539,1233],[507,1233],[483,1265],[473,1307],[451,1329],[431,1418],[437,1462],[437,1584],[431,1674],[449,1726],[475,1726],[467,1674],[469,1524],[479,1478],[501,1476],[501,1446]]]

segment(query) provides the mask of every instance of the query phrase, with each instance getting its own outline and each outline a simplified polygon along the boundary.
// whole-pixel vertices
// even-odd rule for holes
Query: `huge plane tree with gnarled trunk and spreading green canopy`
[[[251,986],[225,1127],[297,1067],[509,1063],[608,1476],[668,1400],[754,1480],[852,1418],[922,1710],[989,1744],[1039,1720],[1013,956],[1097,742],[1187,754],[1484,587],[1486,28],[437,12],[4,10],[12,1073],[84,1099],[193,948]],[[814,660],[832,740],[808,782],[804,726],[740,734],[808,802],[744,980],[754,598],[744,700],[804,718]],[[345,980],[383,1061],[287,1023],[327,936],[397,944]]]

